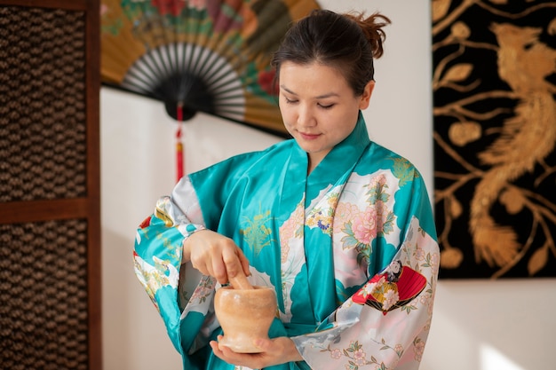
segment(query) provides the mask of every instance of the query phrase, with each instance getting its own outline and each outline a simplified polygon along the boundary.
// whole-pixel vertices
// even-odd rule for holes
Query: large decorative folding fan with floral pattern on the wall
[[[284,136],[269,63],[313,0],[102,0],[105,85]]]

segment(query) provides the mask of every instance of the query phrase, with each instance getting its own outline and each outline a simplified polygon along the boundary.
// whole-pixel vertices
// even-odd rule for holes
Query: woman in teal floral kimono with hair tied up
[[[324,10],[298,21],[273,59],[293,139],[182,178],[141,224],[136,272],[184,368],[417,369],[433,214],[417,169],[371,142],[361,114],[387,23]],[[218,345],[215,289],[242,274],[278,297],[257,354]]]

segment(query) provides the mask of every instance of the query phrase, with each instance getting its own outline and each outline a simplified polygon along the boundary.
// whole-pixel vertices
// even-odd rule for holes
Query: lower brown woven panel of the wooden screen
[[[0,368],[88,368],[87,224],[0,224]]]

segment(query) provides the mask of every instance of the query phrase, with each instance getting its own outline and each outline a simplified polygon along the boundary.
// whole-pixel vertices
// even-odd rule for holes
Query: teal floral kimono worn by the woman
[[[212,354],[222,331],[216,280],[182,264],[204,228],[232,238],[250,282],[274,287],[269,336],[304,361],[268,369],[417,369],[431,324],[440,254],[419,172],[353,132],[307,176],[295,140],[234,156],[182,178],[139,226],[135,271],[184,369],[240,369]]]

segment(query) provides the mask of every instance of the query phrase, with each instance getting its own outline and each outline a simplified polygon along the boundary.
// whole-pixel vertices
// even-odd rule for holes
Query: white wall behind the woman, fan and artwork
[[[433,190],[429,0],[321,0],[336,11],[384,12],[385,57],[365,118],[374,140],[413,161]],[[101,184],[103,350],[106,370],[180,369],[162,320],[133,274],[134,233],[175,182],[177,124],[163,105],[103,88]],[[186,169],[280,140],[198,114],[184,125]],[[431,194],[432,195],[432,194]],[[439,284],[422,370],[553,368],[554,279]]]

